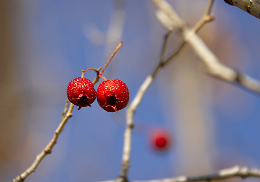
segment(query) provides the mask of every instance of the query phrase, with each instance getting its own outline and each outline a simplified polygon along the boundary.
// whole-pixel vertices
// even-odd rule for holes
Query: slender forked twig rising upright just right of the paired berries
[[[203,15],[203,17],[205,17],[205,16],[209,17],[209,13],[210,13],[211,7],[213,5],[213,1],[214,0],[210,1],[209,6],[207,8],[207,11]],[[202,27],[207,22],[209,22],[209,20],[207,18],[202,18],[200,20],[200,26],[198,26],[198,28],[196,28],[197,31],[200,29],[200,27]],[[122,181],[127,180],[126,177],[127,177],[127,173],[128,173],[130,152],[131,152],[131,136],[132,136],[132,130],[133,130],[133,127],[134,127],[133,117],[134,117],[134,114],[136,112],[136,109],[139,106],[139,104],[141,103],[144,94],[146,93],[147,89],[149,88],[149,86],[153,82],[153,80],[156,77],[158,71],[162,67],[164,67],[167,63],[169,63],[175,56],[177,56],[180,53],[180,51],[183,49],[183,47],[186,43],[184,41],[180,45],[179,49],[165,61],[164,57],[165,57],[165,52],[166,52],[167,43],[168,43],[168,40],[169,40],[170,33],[171,33],[171,30],[165,35],[164,42],[163,42],[163,49],[161,50],[158,65],[153,70],[152,74],[148,75],[146,77],[145,81],[140,86],[134,100],[127,107],[126,128],[125,128],[125,132],[124,132],[124,146],[123,146],[123,155],[122,155],[122,167],[121,167],[120,176],[119,176],[119,178],[121,178]]]

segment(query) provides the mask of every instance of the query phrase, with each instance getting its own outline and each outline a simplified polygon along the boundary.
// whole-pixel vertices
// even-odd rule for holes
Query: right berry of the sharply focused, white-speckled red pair
[[[96,100],[108,112],[125,108],[129,101],[129,90],[121,80],[106,80],[96,90]]]

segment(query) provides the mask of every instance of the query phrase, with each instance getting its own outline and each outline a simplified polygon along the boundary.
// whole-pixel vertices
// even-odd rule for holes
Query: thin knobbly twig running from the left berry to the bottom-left
[[[67,102],[66,102],[66,105],[68,106]],[[58,136],[59,136],[60,132],[63,130],[63,127],[67,123],[68,119],[72,116],[73,108],[74,108],[74,104],[70,104],[69,110],[67,111],[66,115],[64,117],[62,117],[61,122],[60,122],[59,126],[57,127],[57,129],[55,130],[55,133],[54,133],[53,138],[51,139],[51,141],[42,150],[42,152],[36,156],[35,161],[23,173],[21,173],[18,176],[16,176],[12,180],[12,182],[24,181],[32,172],[34,172],[36,170],[36,168],[38,167],[40,162],[43,160],[43,158],[47,154],[51,153],[53,146],[57,143],[57,139],[58,139]],[[66,110],[66,108],[64,110]]]

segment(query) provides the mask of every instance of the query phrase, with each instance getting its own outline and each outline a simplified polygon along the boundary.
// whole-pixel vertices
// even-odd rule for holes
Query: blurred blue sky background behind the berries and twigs
[[[183,2],[185,11],[184,5],[171,1],[192,26],[201,17],[208,1]],[[20,82],[17,89],[23,100],[22,135],[14,142],[20,143],[22,148],[14,148],[19,155],[6,167],[3,181],[11,180],[25,170],[51,140],[67,99],[66,88],[70,80],[81,76],[84,68],[99,68],[106,63],[108,57],[104,44],[93,44],[87,38],[86,30],[96,27],[106,36],[113,8],[113,1],[99,0],[26,0],[18,4],[10,1],[17,61],[13,67]],[[109,65],[105,76],[124,81],[132,101],[158,61],[166,30],[156,20],[150,1],[125,1],[124,8],[123,47],[115,57],[116,64]],[[225,65],[260,79],[260,20],[224,1],[215,1],[212,14],[216,20],[206,25],[200,35],[205,37],[206,43]],[[176,47],[178,36],[172,35],[172,40],[171,47]],[[173,49],[168,50],[168,55],[172,52]],[[158,74],[135,115],[129,169],[131,180],[189,174],[178,173],[175,162],[180,160],[176,149],[181,139],[178,132],[174,132],[176,128],[171,128],[171,123],[181,121],[172,117],[177,104],[169,102],[176,94],[168,88],[167,80],[171,78],[165,77],[167,72],[171,72],[170,67],[178,67],[178,62]],[[85,74],[90,80],[94,76],[94,72]],[[207,105],[214,118],[214,152],[210,154],[214,166],[212,172],[236,164],[260,168],[259,95],[214,78],[206,79],[213,85],[212,102]],[[165,90],[165,95],[161,90]],[[108,113],[96,102],[93,107],[80,111],[75,107],[73,117],[64,127],[52,154],[44,158],[26,181],[115,179],[120,171],[124,122],[125,109]],[[154,152],[148,145],[147,134],[154,127],[168,128],[172,133],[174,142],[167,152]],[[200,168],[201,164],[190,165]],[[204,171],[198,175],[202,173]]]

